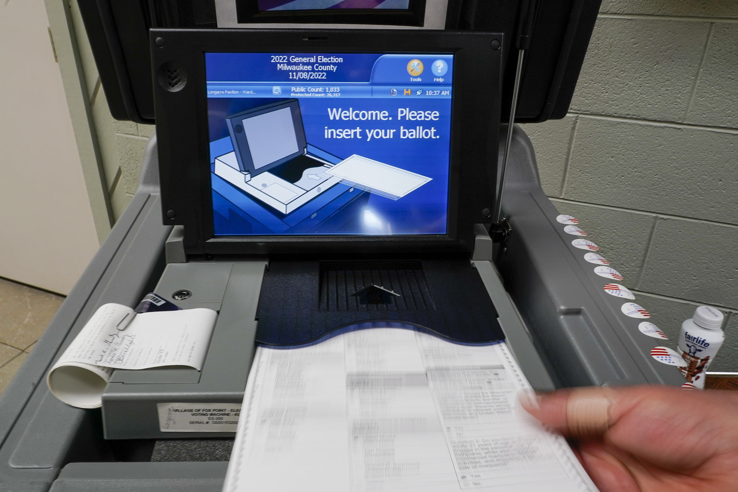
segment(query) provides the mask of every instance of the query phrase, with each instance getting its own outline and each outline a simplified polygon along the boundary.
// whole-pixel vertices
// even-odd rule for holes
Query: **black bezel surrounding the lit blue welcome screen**
[[[156,46],[155,38],[162,38],[163,46]],[[502,51],[492,49],[491,41],[501,41],[502,35],[399,30],[151,30],[151,39],[154,74],[160,80],[154,94],[162,221],[184,226],[188,253],[471,251],[474,224],[489,223],[497,178]],[[210,162],[205,52],[454,55],[446,234],[215,236],[210,166],[203,164]],[[176,91],[167,89],[158,76],[173,65],[187,77],[185,86]],[[466,94],[489,97],[475,99]],[[470,119],[472,113],[477,114],[475,121]],[[459,193],[462,187],[464,193]]]

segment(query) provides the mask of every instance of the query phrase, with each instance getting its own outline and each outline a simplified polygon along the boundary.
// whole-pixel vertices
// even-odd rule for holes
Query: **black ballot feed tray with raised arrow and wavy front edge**
[[[362,322],[402,322],[459,342],[505,338],[469,257],[269,262],[256,341],[305,344]]]

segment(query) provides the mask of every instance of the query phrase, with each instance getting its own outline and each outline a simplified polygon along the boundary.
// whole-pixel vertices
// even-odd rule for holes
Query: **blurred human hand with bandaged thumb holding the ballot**
[[[578,443],[601,492],[738,491],[738,392],[561,389],[523,408]]]

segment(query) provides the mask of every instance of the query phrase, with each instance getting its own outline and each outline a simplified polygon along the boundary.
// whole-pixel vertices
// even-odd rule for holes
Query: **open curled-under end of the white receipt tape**
[[[52,395],[64,403],[81,409],[97,409],[103,406],[103,391],[112,373],[112,367],[62,362],[46,375],[46,385]]]

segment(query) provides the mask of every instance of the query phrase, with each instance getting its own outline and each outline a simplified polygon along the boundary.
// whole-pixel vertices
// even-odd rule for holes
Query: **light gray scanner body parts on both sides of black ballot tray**
[[[489,261],[489,235],[477,226],[477,249],[472,261],[499,313],[500,325],[513,353],[520,353],[521,366],[534,388],[554,389],[520,316],[506,295],[502,280]],[[167,241],[167,257],[173,230]],[[179,307],[219,311],[213,338],[201,371],[188,367],[116,370],[103,393],[103,429],[106,439],[165,439],[186,437],[232,437],[233,432],[162,432],[159,403],[241,403],[254,353],[255,320],[264,268],[263,257],[245,260],[193,260],[168,263],[154,292]],[[187,289],[192,296],[173,299]],[[131,418],[135,415],[135,418]]]

